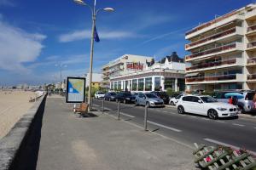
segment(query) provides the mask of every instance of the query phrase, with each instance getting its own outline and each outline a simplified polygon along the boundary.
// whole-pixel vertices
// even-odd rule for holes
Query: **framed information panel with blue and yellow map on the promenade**
[[[85,78],[67,77],[67,103],[84,102]]]

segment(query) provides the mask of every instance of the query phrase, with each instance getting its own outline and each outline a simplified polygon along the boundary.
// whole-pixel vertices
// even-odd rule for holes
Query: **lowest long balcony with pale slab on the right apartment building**
[[[243,74],[186,78],[186,84],[207,84],[207,83],[221,83],[221,82],[245,82],[245,78]]]

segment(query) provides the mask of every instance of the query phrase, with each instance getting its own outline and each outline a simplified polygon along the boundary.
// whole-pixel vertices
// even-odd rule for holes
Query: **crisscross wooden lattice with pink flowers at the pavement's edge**
[[[195,163],[209,170],[254,170],[256,160],[247,150],[235,150],[223,145],[206,146],[195,144]]]

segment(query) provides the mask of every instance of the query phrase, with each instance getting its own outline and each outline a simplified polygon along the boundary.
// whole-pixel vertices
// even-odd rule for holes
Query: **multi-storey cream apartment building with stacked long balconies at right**
[[[256,4],[186,32],[187,90],[256,89]]]

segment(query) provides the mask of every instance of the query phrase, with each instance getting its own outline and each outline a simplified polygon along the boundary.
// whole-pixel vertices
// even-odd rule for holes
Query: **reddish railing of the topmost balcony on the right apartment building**
[[[202,29],[204,29],[204,28],[207,28],[208,26],[212,26],[213,24],[218,23],[219,21],[225,20],[225,19],[227,19],[227,18],[229,18],[230,16],[233,16],[233,15],[235,15],[235,14],[237,14],[237,11],[236,11],[236,10],[231,11],[231,12],[228,13],[228,14],[224,14],[223,16],[220,16],[220,17],[218,17],[218,18],[215,19],[215,20],[211,20],[211,21],[209,21],[209,22],[207,22],[207,23],[205,23],[205,24],[202,24],[201,26],[197,26],[197,27],[195,27],[193,30],[187,31],[187,32],[186,32],[186,36],[188,36],[189,34],[192,34],[192,33],[196,32],[196,31],[200,31],[200,30],[202,30]]]

